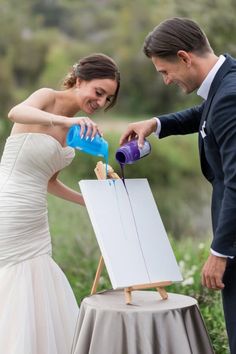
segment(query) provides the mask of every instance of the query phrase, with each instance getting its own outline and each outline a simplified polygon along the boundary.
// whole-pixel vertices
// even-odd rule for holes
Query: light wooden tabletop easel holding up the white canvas
[[[98,179],[106,179],[106,166],[102,161],[99,161],[97,163],[94,171],[95,171],[95,174]],[[107,176],[108,176],[108,178],[111,178],[111,179],[119,179],[120,178],[118,176],[118,174],[114,172],[114,170],[111,166],[108,166]],[[91,295],[93,295],[97,292],[97,286],[98,286],[98,282],[99,282],[103,267],[104,267],[104,259],[102,256],[100,256],[96,275],[95,275],[95,278],[93,281],[93,286],[91,289]],[[165,290],[165,286],[168,286],[171,284],[172,284],[171,281],[164,281],[164,282],[159,282],[159,283],[140,284],[140,285],[133,285],[133,286],[126,287],[126,288],[124,288],[125,302],[126,302],[126,304],[131,304],[132,291],[141,290],[141,289],[150,289],[150,288],[156,288],[156,290],[159,292],[161,298],[163,300],[166,300],[168,298],[168,294]]]

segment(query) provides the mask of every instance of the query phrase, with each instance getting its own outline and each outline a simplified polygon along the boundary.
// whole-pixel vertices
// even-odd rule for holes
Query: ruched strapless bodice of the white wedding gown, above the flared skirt
[[[51,253],[47,185],[73,157],[74,149],[46,134],[7,139],[0,164],[0,267]]]

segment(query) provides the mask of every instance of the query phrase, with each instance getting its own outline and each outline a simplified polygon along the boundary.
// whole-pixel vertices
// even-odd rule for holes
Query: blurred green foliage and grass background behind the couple
[[[0,151],[11,124],[8,110],[39,87],[60,89],[81,57],[112,56],[121,71],[116,108],[99,120],[110,146],[110,164],[127,121],[183,109],[200,102],[165,87],[142,53],[145,36],[162,20],[186,16],[205,30],[216,54],[236,56],[235,0],[0,0]],[[83,114],[83,112],[79,112]],[[210,187],[199,169],[196,136],[150,138],[152,154],[127,168],[127,177],[146,177],[189,284],[173,291],[195,296],[217,354],[228,353],[219,293],[200,286],[201,266],[211,238]],[[78,154],[61,178],[74,188],[94,178],[96,159]],[[85,210],[49,197],[54,257],[80,302],[89,292],[98,247]],[[190,272],[190,273],[189,273]],[[191,273],[192,272],[192,273]],[[109,286],[106,275],[104,287]]]

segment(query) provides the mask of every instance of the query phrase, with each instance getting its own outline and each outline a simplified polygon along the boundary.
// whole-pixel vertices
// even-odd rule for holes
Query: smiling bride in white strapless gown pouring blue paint
[[[78,306],[51,258],[47,192],[84,205],[58,179],[74,157],[66,133],[79,124],[85,139],[101,134],[90,118],[74,116],[111,108],[119,86],[115,62],[92,54],[73,66],[63,90],[39,89],[9,112],[0,164],[0,353],[70,353]]]

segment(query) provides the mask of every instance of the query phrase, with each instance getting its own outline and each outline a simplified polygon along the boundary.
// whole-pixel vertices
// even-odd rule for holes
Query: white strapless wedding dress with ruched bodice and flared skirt
[[[10,136],[0,164],[0,353],[70,354],[78,306],[51,258],[48,180],[74,150],[41,133]]]

